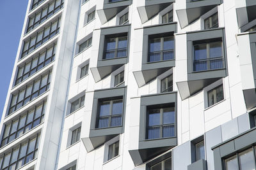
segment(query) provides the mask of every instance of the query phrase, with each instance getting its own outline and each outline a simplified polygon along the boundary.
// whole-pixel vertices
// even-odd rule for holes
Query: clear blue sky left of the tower
[[[0,0],[0,117],[10,84],[28,0]]]

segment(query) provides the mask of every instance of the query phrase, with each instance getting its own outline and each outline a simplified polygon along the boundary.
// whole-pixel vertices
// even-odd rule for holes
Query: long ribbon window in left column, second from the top
[[[63,8],[64,0],[55,0],[47,4],[44,8],[31,15],[28,19],[27,32],[34,29],[37,25],[44,22],[47,18],[51,17],[54,13]]]

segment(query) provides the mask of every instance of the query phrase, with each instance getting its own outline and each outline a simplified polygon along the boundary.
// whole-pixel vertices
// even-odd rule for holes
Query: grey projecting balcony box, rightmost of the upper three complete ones
[[[187,32],[175,37],[180,44],[177,51],[187,49],[187,52],[177,53],[176,59],[176,71],[185,75],[177,78],[182,100],[227,76],[224,28]]]

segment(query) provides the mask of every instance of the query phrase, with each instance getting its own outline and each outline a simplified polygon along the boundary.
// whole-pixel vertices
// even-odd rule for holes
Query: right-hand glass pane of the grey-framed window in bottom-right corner
[[[255,170],[252,148],[239,154],[241,170]]]

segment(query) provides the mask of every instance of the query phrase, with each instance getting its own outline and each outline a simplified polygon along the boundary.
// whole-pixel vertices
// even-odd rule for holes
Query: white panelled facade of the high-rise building
[[[17,158],[16,167],[12,168],[66,170],[76,165],[74,168],[79,170],[146,170],[159,161],[161,162],[171,157],[172,169],[195,169],[193,163],[195,165],[197,160],[194,160],[193,143],[194,141],[197,143],[198,140],[203,140],[204,160],[207,160],[205,162],[207,169],[220,170],[216,167],[214,147],[252,131],[252,124],[255,124],[255,122],[252,122],[256,121],[256,119],[253,120],[253,117],[255,117],[253,108],[256,106],[253,100],[256,99],[256,95],[248,91],[251,89],[255,91],[256,89],[255,68],[253,68],[256,65],[254,59],[252,59],[252,54],[256,49],[252,45],[255,45],[256,41],[252,40],[253,32],[247,32],[248,29],[256,24],[254,24],[255,20],[252,20],[252,16],[251,18],[248,17],[249,14],[245,14],[246,12],[243,13],[246,0],[243,0],[243,2],[242,0],[219,0],[215,4],[214,2],[209,4],[211,8],[204,8],[208,6],[208,0],[196,2],[189,0],[161,0],[159,4],[154,4],[153,0],[150,0],[149,4],[147,4],[147,1],[131,0],[129,1],[130,4],[125,4],[128,1],[113,1],[113,3],[109,3],[106,0],[88,0],[85,2],[79,0],[45,0],[31,10],[35,0],[29,0],[1,119],[0,169],[8,166],[12,167],[12,163],[15,160],[4,163],[8,159],[8,153],[12,152],[12,155],[15,155],[15,148],[21,147],[29,139],[40,134],[38,147],[36,146],[35,151],[33,151],[33,158],[29,160],[30,152],[27,151],[24,153],[26,154],[26,157],[24,157],[25,162],[18,166],[21,160],[19,157]],[[63,3],[63,6],[56,11],[54,10],[51,16],[49,15],[27,33],[29,17],[37,16],[39,11],[43,11],[45,8],[48,9],[49,7],[47,6],[52,2],[57,2],[54,9],[58,6],[58,3]],[[112,6],[109,7],[109,4]],[[192,7],[189,7],[189,5]],[[249,4],[247,5],[249,6]],[[148,6],[151,6],[151,8],[147,8]],[[256,9],[256,4],[251,2],[250,6]],[[156,8],[161,9],[157,12],[152,10]],[[194,17],[192,15],[195,12],[191,13],[189,9],[201,11],[200,15],[191,21],[190,18]],[[162,24],[163,15],[171,10],[173,10],[173,21],[169,24]],[[90,18],[93,11],[95,11],[95,17]],[[49,13],[49,10],[47,12]],[[120,25],[120,18],[127,12],[128,21],[124,25]],[[150,17],[150,12],[156,13]],[[205,29],[205,20],[216,12],[218,13],[218,27]],[[109,17],[111,15],[113,17]],[[246,20],[240,22],[240,15],[247,17]],[[28,50],[26,55],[22,55],[24,48],[26,48],[24,47],[24,42],[32,39],[29,41],[29,46],[33,44],[31,42],[33,41],[33,36],[40,35],[42,30],[47,30],[47,26],[54,23],[55,20],[59,20],[59,31],[56,31],[56,34],[49,36],[45,41],[42,40],[40,45],[35,45],[34,50]],[[145,56],[145,53],[148,56],[147,53],[150,51],[148,49],[150,48],[148,47],[149,40],[145,42],[145,37],[150,39],[152,35],[159,36],[162,33],[169,36],[169,32],[165,30],[172,25],[174,25],[174,29],[170,30],[170,32],[172,32],[171,34],[174,38],[174,59],[172,62],[174,65],[170,66],[170,63],[166,61],[161,62],[163,64],[164,62],[167,63],[164,66],[160,62],[159,66],[148,65],[148,62],[143,63],[143,56]],[[157,29],[155,29],[156,27]],[[244,29],[244,27],[248,28]],[[223,31],[223,34],[216,36],[214,31]],[[45,34],[47,33],[44,32]],[[102,56],[104,57],[107,53],[104,52],[108,48],[106,47],[107,39],[120,37],[120,35],[127,38],[127,47],[125,48],[127,50],[127,55],[125,56],[127,61],[117,61],[119,59],[109,59],[107,61],[102,59]],[[90,38],[92,38],[92,43],[89,43]],[[40,38],[37,36],[35,44],[38,43],[38,39]],[[208,39],[211,40],[208,41]],[[195,49],[194,46],[198,44],[212,43],[216,41],[214,39],[221,39],[222,42],[223,67],[220,70],[201,70],[200,73],[197,73],[194,68],[194,71],[190,72],[190,60],[195,59],[196,55],[192,48]],[[84,43],[86,41],[88,42]],[[33,68],[33,66],[30,66],[28,74],[31,75],[28,78],[24,76],[20,83],[15,83],[17,74],[19,74],[19,67],[26,66],[30,60],[40,56],[52,45],[56,45],[54,59],[48,64],[44,64],[35,73],[30,73]],[[83,45],[85,47],[81,50]],[[190,45],[192,46],[191,48],[189,47]],[[189,53],[191,53],[191,58],[188,57]],[[83,74],[84,66],[88,67],[88,72],[85,74]],[[148,69],[148,67],[150,68]],[[122,71],[124,71],[124,83],[115,87],[115,76]],[[49,76],[47,80],[49,87],[46,85],[46,90],[41,92],[43,88],[41,85],[38,87],[37,96],[33,97],[35,94],[33,91],[29,101],[26,101],[28,99],[26,98],[27,91],[29,91],[31,82],[33,82],[34,90],[36,88],[36,80],[50,72],[51,77]],[[221,76],[219,76],[219,73]],[[23,71],[23,74],[25,74],[25,71]],[[161,80],[170,74],[172,74],[173,78],[172,92],[161,93]],[[223,86],[223,99],[209,106],[209,91],[219,85]],[[21,99],[20,96],[22,97],[22,90],[25,87],[27,90],[24,91]],[[196,88],[197,90],[193,90]],[[111,102],[120,99],[120,97],[115,97],[115,93],[120,96],[118,94],[119,91],[116,89],[125,89],[124,95],[122,95],[123,113],[121,116],[122,123],[120,124],[120,129],[122,130],[113,130],[113,127],[105,129],[95,127],[99,123],[97,121],[100,121],[98,120],[100,102],[106,99],[111,100]],[[19,92],[18,99],[13,106],[12,103],[14,101],[12,98],[14,97],[12,96],[15,96],[17,92]],[[246,92],[252,95],[247,97],[245,96]],[[173,97],[175,101],[163,101],[165,98],[161,96],[164,95],[166,95],[166,99],[175,96]],[[159,101],[154,101],[155,99],[159,99]],[[22,106],[19,106],[20,100]],[[162,101],[164,103],[161,103]],[[42,102],[45,103],[45,110],[42,111],[44,116],[41,115],[40,123],[34,123],[36,122],[36,115],[32,118],[33,123],[29,123],[27,120],[29,118],[27,118],[22,134],[19,134],[18,137],[18,132],[15,132],[16,137],[11,141],[12,129],[9,130],[8,134],[5,134],[6,125],[10,124],[10,122],[15,124],[17,118],[19,119],[18,122],[21,122],[22,115],[29,114],[29,110]],[[73,110],[72,107],[75,107],[73,104],[76,102],[79,103],[77,105],[78,108]],[[173,103],[174,106],[172,107],[175,108],[175,130],[173,130],[175,132],[174,136],[169,137],[175,141],[175,144],[171,144],[168,138],[150,141],[148,137],[145,137],[149,126],[148,107],[153,105],[159,107],[161,104],[168,105],[170,103]],[[166,107],[165,105],[164,107]],[[163,108],[163,106],[161,107]],[[10,111],[12,108],[14,111]],[[144,116],[143,110],[145,112]],[[111,110],[111,114],[114,114],[112,112],[113,110]],[[27,117],[29,116],[27,115]],[[95,125],[92,122],[96,122]],[[144,124],[141,125],[141,122],[144,122]],[[36,124],[35,127],[33,127],[34,124]],[[17,125],[16,131],[19,131],[19,125]],[[31,126],[30,128],[29,125]],[[28,130],[26,130],[27,127]],[[75,131],[79,127],[81,127],[79,132],[77,130],[77,133],[80,133],[78,135],[79,139],[73,143]],[[141,136],[141,132],[144,137]],[[9,136],[6,139],[9,141],[6,141],[6,145],[3,145],[3,140],[6,136]],[[109,148],[116,141],[119,141],[118,155],[109,160]],[[22,152],[21,149],[20,152]],[[234,151],[230,154],[234,155],[236,153],[238,152]],[[152,154],[155,155],[152,156]],[[164,155],[169,156],[165,157]],[[28,162],[26,163],[27,157]],[[221,158],[224,162],[222,164],[225,164],[227,156],[225,155]],[[228,169],[225,166],[223,168]],[[199,169],[205,169],[205,167],[200,167]]]

